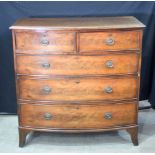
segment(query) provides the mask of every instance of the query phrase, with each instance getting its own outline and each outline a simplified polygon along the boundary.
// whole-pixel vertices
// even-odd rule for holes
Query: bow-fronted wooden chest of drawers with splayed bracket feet
[[[30,131],[122,129],[138,145],[143,27],[130,16],[18,20],[19,146]]]

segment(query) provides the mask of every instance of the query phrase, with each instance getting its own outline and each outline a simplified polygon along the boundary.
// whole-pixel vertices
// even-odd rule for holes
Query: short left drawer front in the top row
[[[70,32],[16,32],[17,52],[74,53],[75,34]],[[34,53],[34,52],[33,52]]]

